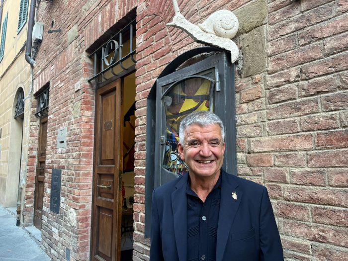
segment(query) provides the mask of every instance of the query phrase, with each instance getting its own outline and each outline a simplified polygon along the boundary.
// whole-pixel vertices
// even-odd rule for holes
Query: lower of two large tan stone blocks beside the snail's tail
[[[243,39],[242,54],[243,77],[255,75],[266,70],[266,47],[263,26],[246,34]]]

